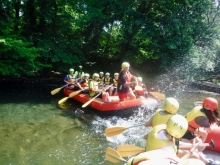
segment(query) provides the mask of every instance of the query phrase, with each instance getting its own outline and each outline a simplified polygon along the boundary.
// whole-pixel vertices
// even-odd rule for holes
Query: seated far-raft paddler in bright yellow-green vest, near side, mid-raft
[[[99,94],[101,91],[99,90],[99,74],[94,73],[92,76],[92,80],[89,82],[89,95],[90,97],[94,97],[95,95]],[[99,96],[102,98],[102,96]]]

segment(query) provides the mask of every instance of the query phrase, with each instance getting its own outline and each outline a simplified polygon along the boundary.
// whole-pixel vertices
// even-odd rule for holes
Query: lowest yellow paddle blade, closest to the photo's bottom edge
[[[121,155],[116,150],[110,147],[106,148],[105,158],[112,163],[126,161],[121,157]]]

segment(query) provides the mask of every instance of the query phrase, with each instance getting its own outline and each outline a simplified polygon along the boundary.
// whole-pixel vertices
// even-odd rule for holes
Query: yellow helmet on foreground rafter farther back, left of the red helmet
[[[172,97],[166,98],[163,108],[169,113],[176,113],[179,109],[179,102]]]

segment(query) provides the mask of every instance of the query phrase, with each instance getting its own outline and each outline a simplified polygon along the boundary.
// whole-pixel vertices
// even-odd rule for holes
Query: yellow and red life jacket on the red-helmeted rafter
[[[186,114],[186,120],[188,121],[188,130],[194,132],[200,126],[195,122],[195,119],[200,116],[206,116],[205,113],[201,112],[202,106],[196,106]]]

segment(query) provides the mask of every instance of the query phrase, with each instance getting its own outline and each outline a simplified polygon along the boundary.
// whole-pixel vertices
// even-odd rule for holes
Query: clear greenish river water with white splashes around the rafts
[[[108,138],[103,130],[114,125],[142,124],[151,114],[140,109],[135,116],[102,117],[85,112],[70,99],[58,106],[64,96],[62,91],[51,96],[50,91],[55,88],[0,90],[1,165],[110,165],[113,163],[105,160],[108,146],[115,149],[119,144],[130,143],[144,147],[142,137],[149,128],[133,127]],[[179,101],[180,114],[207,96],[220,101],[219,94],[197,89],[179,87],[164,93]]]

